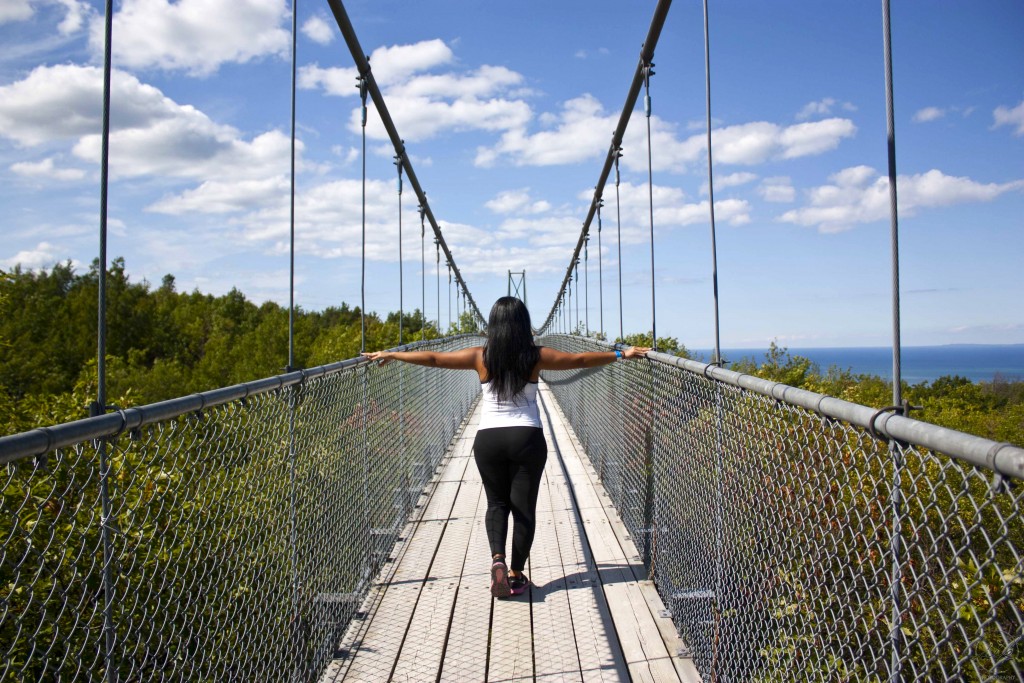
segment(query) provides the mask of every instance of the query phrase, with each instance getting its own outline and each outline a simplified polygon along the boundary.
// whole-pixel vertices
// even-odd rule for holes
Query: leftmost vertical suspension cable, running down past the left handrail
[[[104,5],[103,34],[103,130],[99,157],[99,271],[97,282],[96,321],[96,401],[90,415],[106,413],[106,197],[110,179],[111,151],[111,46],[114,38],[114,0]],[[99,439],[99,527],[103,546],[103,666],[106,680],[116,683],[118,667],[114,658],[117,632],[114,627],[114,540],[111,538],[114,514],[110,495],[111,462],[106,453],[106,439]]]

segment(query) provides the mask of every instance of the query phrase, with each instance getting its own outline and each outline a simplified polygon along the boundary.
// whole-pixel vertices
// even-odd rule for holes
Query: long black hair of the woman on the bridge
[[[498,400],[514,401],[540,359],[525,304],[515,297],[496,301],[487,317],[483,365]]]

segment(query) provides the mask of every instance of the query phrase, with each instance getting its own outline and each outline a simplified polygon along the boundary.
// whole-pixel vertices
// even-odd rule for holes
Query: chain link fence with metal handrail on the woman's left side
[[[0,438],[0,680],[317,680],[478,393],[352,359]]]

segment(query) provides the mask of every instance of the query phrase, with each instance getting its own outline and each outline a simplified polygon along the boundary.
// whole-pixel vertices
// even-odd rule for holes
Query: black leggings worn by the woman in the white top
[[[513,571],[522,571],[536,528],[537,495],[541,490],[548,444],[540,427],[495,427],[476,432],[476,466],[487,496],[484,518],[490,554],[505,554],[509,512],[512,513]]]

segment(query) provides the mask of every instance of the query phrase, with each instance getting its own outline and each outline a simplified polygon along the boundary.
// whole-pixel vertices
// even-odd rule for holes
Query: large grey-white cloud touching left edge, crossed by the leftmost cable
[[[97,164],[101,87],[102,73],[93,67],[38,68],[23,81],[0,87],[0,135],[26,146],[71,142],[77,158]],[[281,189],[291,148],[281,131],[247,139],[121,71],[112,74],[112,91],[118,102],[111,122],[112,177],[201,183],[159,200],[151,210],[178,214],[209,202],[206,211],[241,211],[263,206],[261,189]],[[296,150],[301,164],[301,140]],[[35,177],[75,179],[81,173],[55,169],[49,160],[16,166],[15,172]]]

